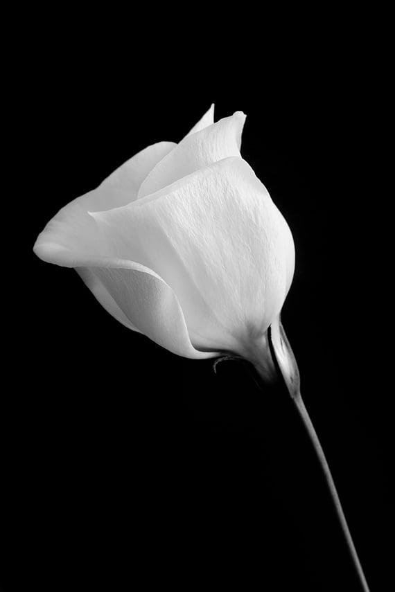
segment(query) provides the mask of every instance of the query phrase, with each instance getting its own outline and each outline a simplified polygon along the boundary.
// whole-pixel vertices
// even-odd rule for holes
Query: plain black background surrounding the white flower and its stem
[[[3,591],[358,590],[281,388],[159,348],[33,254],[60,207],[146,145],[179,141],[211,102],[216,120],[247,114],[242,155],[292,230],[283,325],[371,591],[388,589],[387,197],[374,189],[385,93],[366,40],[344,51],[337,30],[280,57],[277,39],[254,62],[248,42],[243,57],[218,44],[192,61],[188,35],[149,54],[74,33],[33,35],[13,74]]]

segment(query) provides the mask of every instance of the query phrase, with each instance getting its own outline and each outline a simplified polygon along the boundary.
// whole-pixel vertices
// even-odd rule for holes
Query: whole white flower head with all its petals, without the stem
[[[175,354],[258,364],[295,267],[292,235],[240,156],[245,115],[213,105],[62,208],[35,253],[74,267],[105,309]],[[265,353],[266,352],[266,353]]]

